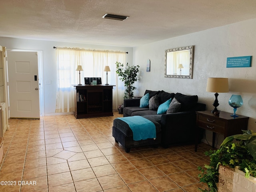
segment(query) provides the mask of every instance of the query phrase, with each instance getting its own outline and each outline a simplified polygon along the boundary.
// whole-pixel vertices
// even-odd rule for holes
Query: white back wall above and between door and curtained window
[[[43,80],[50,81],[51,84],[43,84],[44,89],[44,113],[45,115],[54,114],[56,106],[56,88],[57,88],[57,66],[56,66],[56,47],[76,47],[96,50],[114,50],[128,52],[127,61],[132,64],[132,49],[121,46],[104,46],[95,44],[79,44],[70,42],[52,42],[41,40],[27,40],[18,38],[0,37],[0,45],[7,49],[23,50],[42,50],[43,51]],[[102,80],[103,81],[103,80]]]

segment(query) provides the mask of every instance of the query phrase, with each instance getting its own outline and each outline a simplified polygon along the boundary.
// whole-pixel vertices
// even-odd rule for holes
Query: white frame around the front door
[[[38,86],[39,86],[39,109],[40,109],[40,116],[44,116],[44,68],[43,68],[43,51],[42,50],[25,50],[25,49],[7,49],[7,51],[20,51],[20,52],[37,52],[38,53]],[[8,54],[7,54],[7,62],[8,62]],[[6,74],[7,74],[7,101],[8,103],[8,118],[10,118],[10,101],[9,101],[9,79],[8,79],[8,66],[6,66]]]

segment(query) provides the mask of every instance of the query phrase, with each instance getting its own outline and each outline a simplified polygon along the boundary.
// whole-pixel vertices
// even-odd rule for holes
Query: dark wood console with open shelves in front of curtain
[[[78,118],[113,116],[114,85],[75,85],[75,111]]]

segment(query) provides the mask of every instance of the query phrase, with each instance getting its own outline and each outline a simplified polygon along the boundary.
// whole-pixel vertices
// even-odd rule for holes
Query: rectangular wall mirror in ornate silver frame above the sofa
[[[194,46],[165,50],[164,77],[192,79]]]

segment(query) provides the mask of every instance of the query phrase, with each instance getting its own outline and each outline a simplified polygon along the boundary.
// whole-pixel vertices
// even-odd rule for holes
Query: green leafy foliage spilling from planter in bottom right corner
[[[242,170],[246,178],[256,176],[256,132],[243,130],[243,134],[229,136],[224,139],[218,150],[209,150],[204,153],[210,156],[210,164],[204,168],[198,167],[202,171],[199,174],[200,182],[206,183],[208,189],[200,189],[201,192],[217,192],[219,165],[238,167]]]

